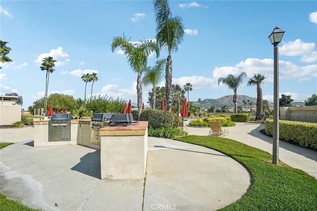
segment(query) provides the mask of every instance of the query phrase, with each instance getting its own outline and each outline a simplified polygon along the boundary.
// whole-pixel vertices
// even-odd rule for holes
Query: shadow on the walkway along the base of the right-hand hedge
[[[267,135],[264,135],[260,132],[260,130],[263,130],[262,127],[257,127],[256,129],[252,130],[251,133],[248,133],[251,136],[257,137],[269,144],[273,143],[273,138]],[[312,160],[317,161],[317,152],[313,151],[313,150],[309,150],[300,146],[296,146],[293,144],[290,144],[288,142],[284,142],[282,140],[279,140],[279,147],[283,148],[285,150],[291,151],[293,153],[296,153],[298,155],[304,156],[306,158],[310,158]]]

